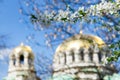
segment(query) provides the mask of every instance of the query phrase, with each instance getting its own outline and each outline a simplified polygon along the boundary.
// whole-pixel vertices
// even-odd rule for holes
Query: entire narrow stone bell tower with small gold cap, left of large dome
[[[34,54],[29,46],[21,44],[9,56],[8,76],[5,80],[40,80],[34,69]]]

